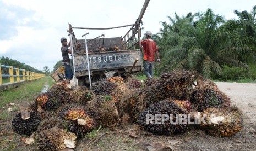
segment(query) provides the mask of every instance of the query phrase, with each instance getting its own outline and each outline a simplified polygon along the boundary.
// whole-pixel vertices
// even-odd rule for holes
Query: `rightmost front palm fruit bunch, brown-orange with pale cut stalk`
[[[205,123],[200,126],[215,137],[229,137],[242,129],[242,117],[242,112],[235,106],[208,108],[201,113]]]

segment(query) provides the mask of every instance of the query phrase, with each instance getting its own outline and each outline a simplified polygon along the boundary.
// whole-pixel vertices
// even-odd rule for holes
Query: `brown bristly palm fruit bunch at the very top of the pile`
[[[165,98],[187,99],[190,91],[193,89],[194,76],[189,71],[183,69],[165,72],[157,80],[156,87],[160,92],[165,92]]]

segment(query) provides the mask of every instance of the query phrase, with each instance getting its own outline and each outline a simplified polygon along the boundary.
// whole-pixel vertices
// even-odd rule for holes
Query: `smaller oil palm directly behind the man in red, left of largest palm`
[[[181,48],[178,45],[183,44],[185,39],[192,39],[190,36],[195,34],[195,28],[191,26],[193,17],[192,13],[182,17],[175,13],[175,19],[168,16],[172,25],[160,22],[163,28],[152,39],[157,42],[160,50],[159,54],[162,59],[160,68],[162,71],[169,71],[175,68],[177,63],[187,56],[188,49],[184,50],[186,48]],[[183,66],[183,68],[186,67]]]

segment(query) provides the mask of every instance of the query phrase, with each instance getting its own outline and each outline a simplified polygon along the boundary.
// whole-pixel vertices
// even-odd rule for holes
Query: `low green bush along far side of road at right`
[[[218,80],[230,80],[230,81],[237,81],[241,79],[251,79],[252,74],[246,68],[239,68],[239,67],[228,67],[224,66],[223,74],[220,77],[217,77]]]

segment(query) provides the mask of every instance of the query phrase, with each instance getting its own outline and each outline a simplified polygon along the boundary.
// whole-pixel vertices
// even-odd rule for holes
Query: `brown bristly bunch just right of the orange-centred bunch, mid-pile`
[[[118,110],[111,96],[95,98],[89,101],[85,109],[103,127],[112,128],[120,125]]]

